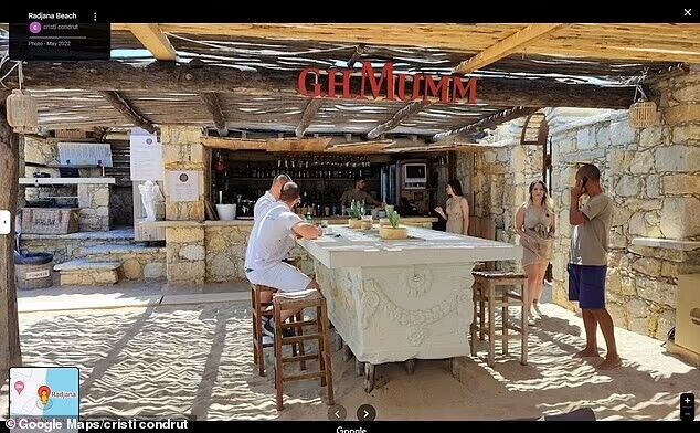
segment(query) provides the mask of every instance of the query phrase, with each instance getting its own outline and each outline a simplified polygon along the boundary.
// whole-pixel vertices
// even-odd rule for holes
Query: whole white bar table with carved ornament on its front
[[[329,319],[365,363],[365,390],[375,365],[469,355],[475,263],[522,254],[517,245],[421,228],[402,241],[381,240],[376,225],[331,230],[298,243],[315,260]]]

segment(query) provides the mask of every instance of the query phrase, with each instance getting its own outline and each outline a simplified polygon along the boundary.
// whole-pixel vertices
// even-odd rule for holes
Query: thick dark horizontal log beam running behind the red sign
[[[7,64],[0,76],[7,73]],[[235,95],[298,95],[297,72],[236,71],[229,67],[191,68],[153,62],[136,67],[121,62],[30,62],[23,68],[24,87],[32,89],[78,88],[83,91],[220,92]],[[4,78],[18,88],[17,74]],[[359,80],[351,82],[359,87]],[[645,88],[646,92],[646,88]],[[587,107],[626,109],[634,102],[635,87],[603,87],[569,84],[555,80],[479,78],[478,104],[532,107]],[[647,92],[649,95],[649,92]],[[649,95],[650,96],[650,95]],[[341,101],[341,99],[333,99]],[[358,99],[354,99],[356,102]],[[657,104],[659,101],[655,101]],[[369,101],[368,104],[383,101]]]

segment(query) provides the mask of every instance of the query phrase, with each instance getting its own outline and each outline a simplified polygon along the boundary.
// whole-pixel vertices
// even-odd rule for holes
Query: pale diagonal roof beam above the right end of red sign
[[[459,63],[459,65],[455,67],[455,73],[468,74],[476,70],[480,70],[484,66],[497,62],[507,55],[521,51],[522,47],[528,43],[545,35],[560,25],[561,24],[530,24],[523,29],[520,29],[516,33],[496,42],[494,45],[481,51],[471,59]]]

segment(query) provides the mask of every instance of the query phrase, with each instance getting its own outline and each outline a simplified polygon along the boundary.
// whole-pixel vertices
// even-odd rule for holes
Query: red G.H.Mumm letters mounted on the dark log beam
[[[469,78],[465,83],[456,74],[437,77],[394,74],[393,63],[384,63],[381,74],[374,71],[370,62],[362,62],[359,74],[353,74],[352,70],[321,71],[307,67],[299,74],[298,87],[301,95],[309,97],[476,103],[476,78]]]

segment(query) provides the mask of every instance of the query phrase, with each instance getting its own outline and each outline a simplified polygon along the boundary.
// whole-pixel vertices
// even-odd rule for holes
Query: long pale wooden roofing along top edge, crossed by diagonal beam
[[[484,51],[522,24],[187,24],[161,23],[168,33],[225,38],[266,38],[283,41],[317,41],[342,44],[416,46],[450,52]],[[113,31],[125,30],[112,24]],[[614,61],[699,63],[700,29],[694,23],[569,24],[545,39],[528,45],[528,54],[558,57],[608,59]]]

